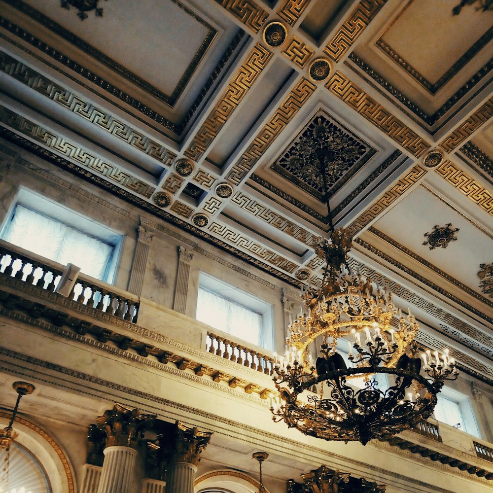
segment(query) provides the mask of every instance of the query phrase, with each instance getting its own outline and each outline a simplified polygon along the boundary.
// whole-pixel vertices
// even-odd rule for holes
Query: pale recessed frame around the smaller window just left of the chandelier
[[[198,292],[200,289],[209,291],[210,293],[223,298],[231,303],[240,305],[251,312],[254,312],[262,317],[262,326],[260,330],[260,341],[258,344],[254,342],[243,341],[258,346],[259,348],[273,351],[274,347],[274,330],[273,330],[273,320],[274,320],[274,305],[271,303],[251,294],[250,292],[244,291],[228,282],[224,282],[221,279],[217,279],[206,272],[199,273],[199,282],[197,288],[197,299]],[[197,318],[197,306],[195,308],[195,318]],[[201,320],[199,320],[201,321]],[[204,322],[207,323],[207,322]],[[217,330],[221,330],[217,328]],[[222,331],[222,330],[221,330]],[[224,331],[222,331],[224,332]],[[225,332],[227,333],[227,332]],[[235,334],[231,334],[233,337],[238,337]]]

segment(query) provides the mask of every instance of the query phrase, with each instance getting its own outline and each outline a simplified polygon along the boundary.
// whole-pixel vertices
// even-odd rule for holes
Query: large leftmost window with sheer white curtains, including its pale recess
[[[99,235],[98,235],[99,233]],[[112,282],[122,236],[27,190],[5,222],[1,238],[82,273]]]

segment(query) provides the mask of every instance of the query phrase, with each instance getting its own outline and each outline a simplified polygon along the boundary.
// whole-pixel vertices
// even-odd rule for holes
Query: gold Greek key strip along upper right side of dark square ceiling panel
[[[337,71],[325,87],[414,156],[420,157],[431,147],[341,72]]]

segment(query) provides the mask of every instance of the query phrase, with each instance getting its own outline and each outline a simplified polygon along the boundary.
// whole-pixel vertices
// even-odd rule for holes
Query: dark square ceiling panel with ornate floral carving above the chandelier
[[[325,111],[318,110],[271,169],[320,202],[325,200],[317,159],[320,146],[330,148],[330,158],[325,160],[329,197],[377,152]]]

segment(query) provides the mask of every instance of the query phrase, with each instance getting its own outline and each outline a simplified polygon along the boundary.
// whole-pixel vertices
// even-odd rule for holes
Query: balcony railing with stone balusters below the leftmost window
[[[61,264],[0,240],[0,273],[3,275],[53,292],[64,268]],[[106,282],[79,273],[69,297],[101,312],[137,323],[138,298],[116,290]]]

